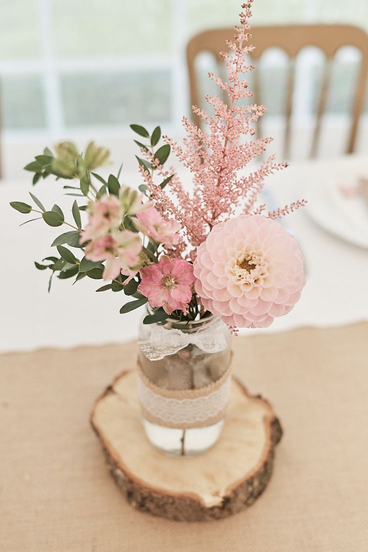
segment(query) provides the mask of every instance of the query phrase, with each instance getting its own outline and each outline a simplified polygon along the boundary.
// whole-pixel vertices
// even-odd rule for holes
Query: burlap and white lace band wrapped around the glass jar
[[[158,395],[138,380],[143,414],[148,420],[166,427],[203,427],[216,423],[225,414],[231,390],[230,373],[220,387],[195,399],[173,399]]]

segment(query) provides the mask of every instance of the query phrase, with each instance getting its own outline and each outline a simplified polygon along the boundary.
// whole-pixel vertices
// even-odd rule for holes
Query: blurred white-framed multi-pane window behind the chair
[[[0,83],[3,126],[17,135],[37,130],[71,136],[78,129],[127,130],[132,121],[166,123],[178,130],[188,113],[184,48],[189,37],[237,20],[240,0],[2,0]],[[354,6],[354,9],[353,9]],[[255,0],[253,24],[348,22],[368,30],[368,2]],[[272,59],[272,58],[271,58]],[[308,98],[318,88],[318,63]],[[279,113],[282,60],[270,64],[264,102]],[[346,71],[345,71],[346,68]],[[349,87],[354,63],[339,65],[335,79]],[[209,83],[206,81],[206,89]],[[346,109],[344,89],[331,112]],[[304,98],[304,99],[303,99]]]

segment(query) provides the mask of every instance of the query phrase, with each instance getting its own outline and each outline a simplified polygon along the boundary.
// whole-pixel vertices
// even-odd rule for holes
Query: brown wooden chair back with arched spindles
[[[354,46],[361,52],[360,71],[356,84],[353,107],[351,109],[351,126],[349,131],[346,153],[354,151],[358,121],[362,108],[364,107],[365,88],[368,75],[368,35],[364,30],[352,25],[280,25],[280,26],[259,26],[252,29],[250,44],[255,46],[252,52],[252,61],[259,60],[260,56],[270,48],[277,47],[286,52],[289,56],[289,69],[287,78],[286,106],[285,106],[285,139],[284,154],[289,156],[291,136],[291,114],[292,95],[294,92],[295,58],[305,46],[316,46],[324,52],[326,63],[322,77],[322,87],[317,102],[316,124],[313,131],[311,157],[316,156],[318,150],[319,136],[321,134],[321,119],[326,109],[327,93],[330,84],[331,68],[333,57],[342,46]],[[217,64],[222,63],[218,52],[226,50],[226,39],[231,39],[233,30],[214,29],[207,30],[194,36],[187,46],[186,54],[189,70],[191,104],[199,105],[198,84],[194,70],[195,57],[200,52],[210,52],[215,56]],[[262,103],[259,73],[254,71],[254,102]],[[193,120],[200,126],[200,119],[193,114]],[[260,125],[260,121],[259,121]],[[260,131],[260,126],[258,126]]]

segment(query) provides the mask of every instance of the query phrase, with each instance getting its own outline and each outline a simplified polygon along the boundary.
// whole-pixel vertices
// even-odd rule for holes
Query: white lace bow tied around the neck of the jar
[[[154,325],[151,333],[145,341],[138,341],[140,349],[150,360],[161,360],[169,354],[174,354],[184,349],[189,344],[196,345],[205,353],[219,353],[227,347],[223,335],[222,320],[214,320],[199,330],[185,333],[182,330],[168,329]]]

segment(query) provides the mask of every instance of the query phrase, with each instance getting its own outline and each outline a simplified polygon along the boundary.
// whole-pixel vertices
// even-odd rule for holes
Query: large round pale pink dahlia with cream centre
[[[195,291],[229,326],[269,326],[292,309],[305,285],[294,236],[262,215],[219,222],[197,253]]]

